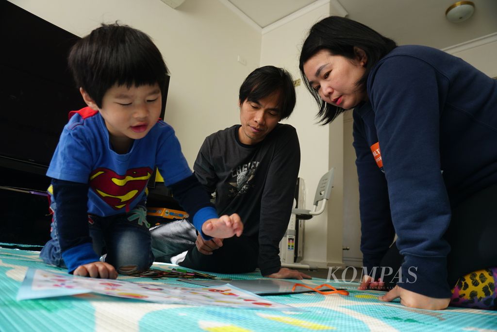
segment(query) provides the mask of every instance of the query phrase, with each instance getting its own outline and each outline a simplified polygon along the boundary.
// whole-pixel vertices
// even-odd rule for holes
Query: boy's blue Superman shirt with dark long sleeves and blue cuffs
[[[218,217],[188,167],[174,130],[165,122],[158,121],[127,154],[120,155],[112,150],[98,112],[89,107],[72,112],[47,171],[54,179],[51,199],[69,272],[99,258],[92,249],[87,214],[107,217],[144,203],[155,166],[199,231],[205,220]]]

